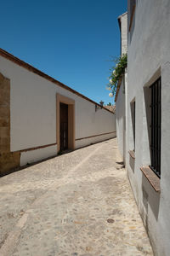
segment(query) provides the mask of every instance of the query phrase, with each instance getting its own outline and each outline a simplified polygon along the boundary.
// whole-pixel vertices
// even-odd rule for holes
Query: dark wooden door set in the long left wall
[[[60,150],[68,149],[68,105],[59,103]]]

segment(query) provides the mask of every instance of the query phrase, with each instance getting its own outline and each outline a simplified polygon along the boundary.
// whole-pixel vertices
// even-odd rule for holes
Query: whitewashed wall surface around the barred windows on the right
[[[128,6],[130,1],[128,1]],[[156,256],[170,253],[170,1],[139,0],[128,32],[127,150],[133,149],[130,102],[136,102],[135,161],[127,173]],[[130,20],[130,17],[128,17]],[[144,86],[161,74],[161,194],[140,171],[150,165]]]

